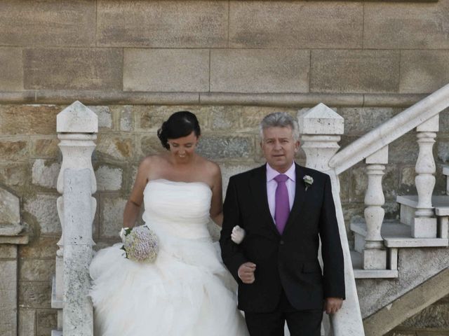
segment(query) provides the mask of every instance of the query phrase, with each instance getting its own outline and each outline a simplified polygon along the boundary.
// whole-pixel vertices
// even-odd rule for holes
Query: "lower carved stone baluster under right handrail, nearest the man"
[[[388,146],[380,149],[365,160],[366,174],[368,174],[368,188],[365,194],[365,221],[366,237],[363,248],[363,268],[364,269],[386,269],[387,250],[384,248],[384,241],[380,235],[385,211],[382,205],[385,203],[384,192],[382,190],[382,176],[385,166],[388,163]]]

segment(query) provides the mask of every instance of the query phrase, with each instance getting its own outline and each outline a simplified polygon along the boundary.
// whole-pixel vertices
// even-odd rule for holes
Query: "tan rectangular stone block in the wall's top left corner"
[[[0,22],[2,45],[95,45],[93,1],[1,1]]]

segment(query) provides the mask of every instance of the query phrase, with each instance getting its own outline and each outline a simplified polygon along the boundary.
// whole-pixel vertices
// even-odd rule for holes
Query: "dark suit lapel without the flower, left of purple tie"
[[[269,212],[268,198],[267,198],[267,166],[263,165],[255,171],[255,174],[251,176],[250,188],[255,204],[260,204],[261,216],[263,223],[268,223],[269,227],[279,235],[279,231],[276,228],[276,224],[273,221],[272,214]]]

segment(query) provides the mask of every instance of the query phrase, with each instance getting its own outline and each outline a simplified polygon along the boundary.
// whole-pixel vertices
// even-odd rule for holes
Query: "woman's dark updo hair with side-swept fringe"
[[[161,140],[164,148],[170,149],[168,139],[187,137],[192,132],[196,137],[201,135],[198,119],[192,112],[179,111],[173,113],[167,121],[162,123],[161,128],[157,130],[157,137]]]

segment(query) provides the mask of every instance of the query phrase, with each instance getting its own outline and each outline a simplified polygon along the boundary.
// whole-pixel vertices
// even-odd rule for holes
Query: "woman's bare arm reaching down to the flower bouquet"
[[[151,158],[145,158],[140,162],[133,190],[131,190],[128,202],[126,202],[123,211],[123,228],[133,228],[138,219],[140,205],[142,205],[143,202],[143,190],[148,182],[148,172],[151,161]]]

